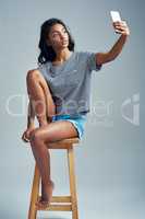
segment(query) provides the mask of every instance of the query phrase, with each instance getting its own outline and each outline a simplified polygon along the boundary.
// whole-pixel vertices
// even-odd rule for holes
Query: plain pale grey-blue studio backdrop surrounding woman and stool
[[[26,127],[25,77],[36,67],[41,23],[51,16],[62,19],[77,50],[107,51],[119,37],[111,25],[110,10],[120,11],[131,36],[118,59],[93,72],[92,106],[97,104],[97,114],[88,115],[84,139],[75,149],[80,218],[144,218],[145,3],[141,0],[0,1],[0,218],[27,217],[34,159],[21,135]],[[133,104],[137,104],[138,125],[121,113],[121,105],[134,95],[136,103],[128,104],[123,114],[132,117]],[[10,99],[9,110],[20,115],[8,112]],[[110,104],[109,111],[102,104]],[[69,193],[65,158],[65,152],[51,152],[55,195]],[[71,217],[69,212],[39,212],[41,218],[48,215]]]

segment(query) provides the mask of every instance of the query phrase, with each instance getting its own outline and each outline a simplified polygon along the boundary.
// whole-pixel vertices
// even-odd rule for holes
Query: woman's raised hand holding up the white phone
[[[113,22],[112,23],[114,30],[116,30],[116,33],[118,34],[122,34],[124,36],[129,36],[130,35],[130,28],[126,24],[125,21],[117,21],[117,22]]]

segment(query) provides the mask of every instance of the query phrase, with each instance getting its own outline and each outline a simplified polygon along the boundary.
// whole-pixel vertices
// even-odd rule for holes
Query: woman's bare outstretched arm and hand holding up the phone
[[[96,54],[97,65],[102,65],[116,59],[118,55],[121,53],[126,42],[126,38],[130,35],[130,30],[125,21],[114,22],[113,27],[116,30],[116,33],[121,34],[121,36],[108,53]]]

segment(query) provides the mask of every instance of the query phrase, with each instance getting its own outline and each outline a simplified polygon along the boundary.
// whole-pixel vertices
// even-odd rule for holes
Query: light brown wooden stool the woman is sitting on
[[[40,198],[39,196],[40,174],[37,165],[35,164],[28,219],[36,219],[38,210],[72,211],[72,219],[78,219],[77,196],[76,196],[75,173],[74,173],[74,150],[73,150],[73,146],[78,142],[80,142],[78,138],[69,138],[49,143],[49,149],[67,149],[69,177],[70,177],[69,180],[70,195],[52,196],[51,203],[47,208],[39,208],[35,205]]]

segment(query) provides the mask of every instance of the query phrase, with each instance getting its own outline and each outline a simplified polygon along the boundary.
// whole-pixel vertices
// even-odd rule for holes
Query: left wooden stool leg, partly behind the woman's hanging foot
[[[34,173],[33,187],[32,187],[32,194],[31,194],[28,219],[36,219],[36,216],[37,216],[37,208],[35,204],[38,200],[38,196],[39,196],[39,183],[40,183],[40,174],[39,174],[39,170],[37,165],[35,164],[35,173]]]

